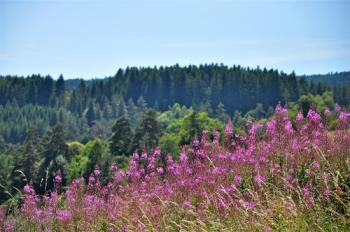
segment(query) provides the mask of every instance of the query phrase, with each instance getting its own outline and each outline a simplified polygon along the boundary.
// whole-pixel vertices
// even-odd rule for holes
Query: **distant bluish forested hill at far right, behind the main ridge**
[[[336,72],[328,74],[317,74],[309,76],[299,76],[299,79],[305,78],[307,81],[313,82],[325,82],[330,85],[350,85],[350,71],[348,72]]]

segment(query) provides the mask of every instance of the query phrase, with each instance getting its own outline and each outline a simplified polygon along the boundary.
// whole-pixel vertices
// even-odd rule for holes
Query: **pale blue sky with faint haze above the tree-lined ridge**
[[[350,70],[350,0],[0,0],[0,74],[201,63]]]

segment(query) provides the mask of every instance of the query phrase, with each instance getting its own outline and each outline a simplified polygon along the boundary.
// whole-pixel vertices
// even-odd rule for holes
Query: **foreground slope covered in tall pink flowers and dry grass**
[[[331,114],[336,130],[327,131]],[[350,226],[350,113],[310,110],[292,122],[277,106],[248,135],[204,131],[178,160],[134,153],[113,165],[103,186],[88,183],[38,196],[30,185],[18,212],[0,215],[5,231],[346,231]],[[212,139],[211,139],[212,138]]]

